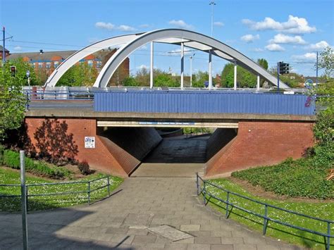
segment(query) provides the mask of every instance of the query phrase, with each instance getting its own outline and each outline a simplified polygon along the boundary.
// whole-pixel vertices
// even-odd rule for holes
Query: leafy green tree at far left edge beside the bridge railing
[[[15,76],[11,75],[11,66],[16,66]],[[7,61],[0,70],[0,139],[4,139],[6,130],[13,130],[22,124],[25,111],[23,86],[27,85],[26,72],[30,70],[31,84],[36,77],[34,69],[22,59]]]

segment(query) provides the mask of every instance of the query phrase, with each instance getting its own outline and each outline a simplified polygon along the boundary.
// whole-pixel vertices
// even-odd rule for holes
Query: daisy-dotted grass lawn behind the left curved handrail
[[[106,177],[106,175],[93,174],[87,177],[80,178],[73,181],[89,181],[95,180],[100,177]],[[34,177],[33,175],[27,175],[26,183],[38,184],[38,183],[51,183],[51,182],[64,182],[60,180],[50,180],[43,177]],[[67,182],[67,181],[66,181]],[[110,176],[110,192],[123,182],[120,177]],[[11,168],[0,167],[0,185],[1,184],[20,184],[20,172]],[[97,180],[90,183],[90,189],[97,189],[107,184],[107,178]],[[28,187],[28,194],[51,194],[60,192],[86,192],[88,189],[87,183],[78,183],[73,185],[45,185],[45,186],[30,186]],[[20,187],[0,187],[1,195],[20,195]],[[108,196],[107,187],[98,189],[90,195],[90,201],[98,201]],[[39,211],[50,208],[61,208],[66,206],[73,206],[78,204],[87,204],[87,193],[78,194],[63,194],[53,196],[32,196],[28,198],[28,210]],[[0,197],[0,211],[20,211],[20,197]]]

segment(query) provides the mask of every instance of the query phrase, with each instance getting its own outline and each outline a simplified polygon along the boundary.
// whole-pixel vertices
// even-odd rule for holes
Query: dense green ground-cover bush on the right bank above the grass
[[[289,158],[278,165],[237,171],[232,173],[232,176],[279,195],[333,199],[334,182],[326,180],[333,158],[328,158],[328,152],[324,150],[316,148],[316,151],[326,157],[318,153],[313,158],[300,158],[295,161]]]

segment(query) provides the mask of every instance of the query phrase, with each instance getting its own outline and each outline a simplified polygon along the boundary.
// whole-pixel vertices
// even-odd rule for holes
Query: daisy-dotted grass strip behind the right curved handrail
[[[218,179],[218,180],[210,180],[209,182],[218,185],[219,187],[223,187],[224,189],[228,189],[231,192],[235,192],[237,194],[242,194],[252,199],[256,199],[257,201],[262,201],[267,204],[271,204],[274,206],[278,206],[280,208],[285,208],[291,211],[296,211],[298,213],[304,213],[306,215],[311,215],[318,218],[333,220],[334,219],[334,202],[333,201],[282,201],[276,199],[264,199],[259,196],[255,196],[245,189],[240,187],[240,185],[231,182],[226,179]],[[212,187],[211,185],[206,185],[206,188],[210,194],[219,197],[220,199],[226,200],[226,193],[217,189],[216,187]],[[208,197],[209,198],[209,197]],[[252,201],[248,201],[246,199],[242,199],[233,194],[230,194],[230,202],[233,204],[240,206],[242,208],[246,208],[249,211],[254,211],[255,213],[264,214],[264,206],[260,204],[256,204]],[[225,214],[225,204],[221,201],[217,201],[214,198],[209,200],[210,206],[221,213]],[[217,206],[218,205],[218,206]],[[299,227],[307,227],[311,230],[316,230],[318,232],[327,233],[327,223],[318,222],[315,220],[311,220],[308,218],[300,217],[297,215],[292,215],[290,213],[286,213],[284,211],[278,211],[274,208],[268,208],[268,217],[285,221],[286,223],[290,223],[293,225],[297,225]],[[264,219],[259,218],[256,215],[252,215],[246,213],[244,211],[240,211],[240,209],[233,208],[230,211],[230,217],[237,222],[247,225],[248,227],[262,232]],[[331,234],[334,234],[334,225],[330,226]],[[302,230],[295,230],[290,227],[285,227],[283,225],[279,225],[278,223],[269,222],[266,230],[266,235],[275,237],[277,239],[283,239],[286,242],[290,242],[292,244],[299,244],[301,246],[312,248],[312,249],[325,249],[324,239],[323,237],[312,235],[308,232],[304,232]],[[331,239],[331,247],[334,247],[334,239]]]

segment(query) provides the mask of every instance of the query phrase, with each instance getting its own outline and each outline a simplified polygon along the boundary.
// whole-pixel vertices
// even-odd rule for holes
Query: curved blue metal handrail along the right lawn
[[[203,182],[203,188],[200,187],[199,180],[201,180]],[[217,189],[219,189],[219,190],[221,190],[223,192],[226,192],[226,194],[227,194],[226,195],[226,200],[223,200],[223,199],[215,196],[214,194],[211,194],[210,192],[208,192],[207,185],[210,185],[212,187],[216,187]],[[203,178],[200,177],[198,175],[198,173],[196,173],[196,186],[197,186],[197,195],[203,194],[204,206],[206,205],[206,196],[212,197],[212,198],[214,198],[214,199],[216,199],[218,201],[221,201],[224,204],[226,204],[225,218],[228,218],[229,215],[230,215],[229,206],[231,206],[232,208],[235,207],[235,208],[238,208],[241,211],[244,211],[246,213],[250,213],[250,214],[255,215],[257,217],[263,218],[264,219],[263,235],[266,235],[266,229],[268,227],[268,222],[271,221],[273,223],[278,223],[280,225],[285,225],[287,227],[292,227],[292,228],[297,229],[297,230],[302,230],[304,232],[309,232],[309,233],[314,234],[314,235],[322,236],[325,239],[326,250],[330,249],[330,238],[334,238],[334,235],[330,235],[330,225],[334,224],[333,220],[326,220],[326,219],[317,218],[317,217],[310,216],[310,215],[305,215],[303,213],[297,213],[296,211],[291,211],[291,210],[288,210],[286,208],[280,208],[278,206],[274,206],[274,205],[271,205],[271,204],[266,204],[265,202],[257,201],[256,199],[252,199],[252,198],[244,196],[242,194],[237,194],[235,192],[231,192],[230,190],[225,189],[223,187],[220,187],[218,185],[215,185],[212,182],[208,182],[207,180],[203,180]],[[230,194],[238,196],[238,197],[240,197],[242,199],[247,199],[248,201],[252,201],[252,202],[254,202],[256,204],[263,205],[264,206],[264,215],[262,215],[260,213],[256,213],[254,211],[250,211],[250,210],[248,210],[246,208],[242,208],[242,206],[237,206],[236,204],[233,204],[232,202],[230,202]],[[317,221],[321,221],[323,223],[327,223],[327,233],[323,233],[323,232],[318,232],[318,231],[315,231],[315,230],[311,230],[311,229],[309,229],[307,227],[299,227],[297,225],[293,225],[293,224],[286,223],[286,222],[281,221],[281,220],[276,220],[274,218],[271,218],[271,217],[268,216],[268,207],[275,208],[277,210],[284,211],[286,213],[290,213],[290,214],[302,216],[304,218],[309,218],[309,219],[312,219],[312,220],[317,220]]]

